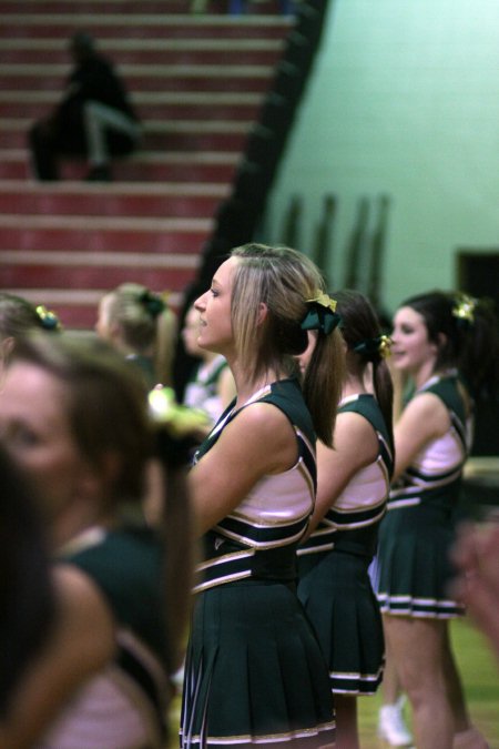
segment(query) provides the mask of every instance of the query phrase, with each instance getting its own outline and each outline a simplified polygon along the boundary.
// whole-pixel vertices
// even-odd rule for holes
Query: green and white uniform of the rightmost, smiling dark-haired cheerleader
[[[431,377],[413,397],[420,393],[440,398],[450,427],[424,446],[390,492],[379,534],[378,600],[381,611],[393,615],[451,618],[464,613],[448,595],[454,574],[449,549],[471,419],[466,422],[454,373]]]

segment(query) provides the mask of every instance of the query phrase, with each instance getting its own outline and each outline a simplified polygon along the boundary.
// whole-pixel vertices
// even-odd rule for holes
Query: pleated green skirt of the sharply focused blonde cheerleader
[[[326,664],[296,594],[253,579],[200,594],[181,746],[317,749],[334,740]]]

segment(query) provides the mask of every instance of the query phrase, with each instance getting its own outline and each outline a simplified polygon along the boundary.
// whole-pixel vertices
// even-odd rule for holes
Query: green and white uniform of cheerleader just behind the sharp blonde
[[[348,412],[373,426],[378,455],[348,482],[298,549],[298,596],[326,656],[332,690],[355,696],[373,695],[383,677],[383,624],[368,567],[386,510],[393,449],[373,395],[344,398],[338,413]]]

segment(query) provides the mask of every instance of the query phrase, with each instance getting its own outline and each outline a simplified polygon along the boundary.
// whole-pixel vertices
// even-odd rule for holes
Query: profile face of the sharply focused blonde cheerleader
[[[200,315],[197,343],[202,348],[227,354],[234,338],[232,332],[231,301],[237,257],[230,257],[216,271],[211,287],[194,303]]]

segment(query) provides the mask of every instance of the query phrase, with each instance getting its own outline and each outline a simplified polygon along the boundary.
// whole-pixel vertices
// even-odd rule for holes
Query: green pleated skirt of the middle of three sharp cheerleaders
[[[369,559],[343,551],[299,557],[298,596],[317,632],[332,689],[374,695],[381,682],[385,640]]]

